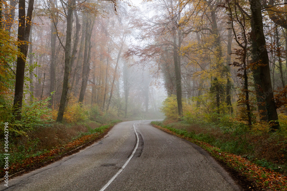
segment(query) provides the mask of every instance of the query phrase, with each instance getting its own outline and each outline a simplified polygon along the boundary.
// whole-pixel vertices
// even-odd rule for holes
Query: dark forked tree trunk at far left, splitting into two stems
[[[19,25],[18,25],[18,49],[23,56],[17,57],[16,64],[16,81],[15,81],[15,94],[13,103],[13,115],[16,120],[21,120],[21,108],[23,101],[24,90],[24,77],[25,77],[25,64],[28,53],[28,41],[31,29],[31,19],[33,13],[34,0],[29,0],[27,17],[25,14],[25,0],[19,0]]]

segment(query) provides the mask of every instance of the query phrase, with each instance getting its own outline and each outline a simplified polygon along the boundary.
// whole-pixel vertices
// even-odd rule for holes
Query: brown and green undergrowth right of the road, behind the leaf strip
[[[251,162],[276,172],[287,174],[287,141],[279,133],[251,133],[245,125],[237,124],[232,130],[217,126],[188,124],[186,121],[153,121],[152,124],[164,127],[178,135],[203,141]],[[193,128],[194,127],[194,128]]]

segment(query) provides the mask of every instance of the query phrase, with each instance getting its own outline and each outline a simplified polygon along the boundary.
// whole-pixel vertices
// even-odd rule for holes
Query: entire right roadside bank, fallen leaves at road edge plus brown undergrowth
[[[163,122],[153,121],[152,125],[167,133],[191,141],[208,151],[213,157],[224,162],[228,167],[236,170],[239,174],[253,182],[254,184],[249,186],[249,190],[287,190],[287,177],[282,174],[286,173],[286,166],[284,164],[278,165],[268,162],[262,157],[252,157],[254,152],[258,152],[256,155],[259,155],[261,151],[261,148],[257,148],[256,145],[259,145],[257,141],[259,141],[258,139],[262,138],[262,136],[265,136],[265,139],[259,141],[260,144],[262,144],[262,141],[265,141],[265,145],[276,145],[276,142],[272,141],[269,141],[271,142],[269,144],[267,143],[266,140],[270,139],[270,137],[266,139],[267,135],[256,135],[257,139],[253,140],[255,144],[250,144],[249,139],[255,137],[247,135],[246,133],[246,136],[241,136],[243,134],[240,135],[240,133],[237,133],[236,138],[230,135],[230,133],[220,133],[220,131],[208,127],[207,124],[205,124],[205,128],[201,126],[202,124],[196,124],[194,125],[195,128],[193,128],[193,125],[185,122],[165,120]],[[278,143],[277,140],[277,144],[282,144],[282,141]],[[262,145],[260,147],[262,147]],[[281,151],[276,151],[274,150],[275,148],[277,147],[274,146],[270,149],[276,152],[273,154],[273,157],[274,155],[281,154]],[[251,151],[254,152],[249,153],[249,155],[246,154]],[[245,153],[245,155],[240,156],[240,153]],[[264,155],[266,154],[263,154],[263,156]],[[284,157],[284,154],[282,157]]]

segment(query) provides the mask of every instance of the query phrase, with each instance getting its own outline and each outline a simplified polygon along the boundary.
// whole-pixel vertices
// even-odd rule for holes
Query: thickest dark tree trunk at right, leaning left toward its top
[[[252,34],[255,36],[257,46],[256,53],[257,55],[253,55],[254,62],[258,63],[259,68],[259,76],[262,83],[262,89],[265,96],[265,105],[267,109],[268,121],[270,122],[270,126],[272,130],[280,129],[278,122],[278,115],[276,111],[276,105],[274,101],[274,95],[272,90],[271,76],[270,76],[270,68],[269,68],[269,58],[268,52],[266,49],[266,41],[263,31],[263,21],[261,14],[261,4],[260,1],[250,0],[250,9],[252,12],[252,17],[254,24],[251,25]]]

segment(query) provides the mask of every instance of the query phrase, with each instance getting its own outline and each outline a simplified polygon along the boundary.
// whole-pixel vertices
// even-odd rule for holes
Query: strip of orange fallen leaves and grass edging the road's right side
[[[287,177],[250,162],[247,158],[226,152],[203,141],[191,138],[186,131],[170,128],[161,122],[152,125],[166,133],[191,141],[208,151],[245,190],[287,190]]]

